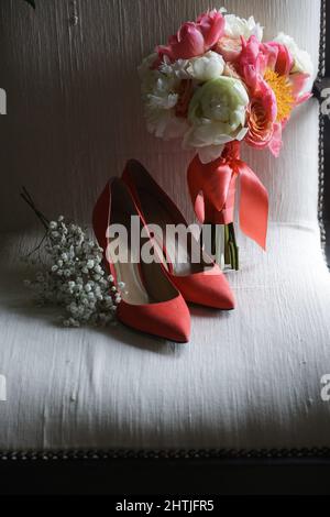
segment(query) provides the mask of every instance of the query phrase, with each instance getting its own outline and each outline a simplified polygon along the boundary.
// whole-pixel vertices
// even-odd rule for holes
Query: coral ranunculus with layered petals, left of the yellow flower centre
[[[249,132],[245,142],[255,148],[265,148],[274,135],[277,117],[276,97],[266,82],[261,81],[246,113]]]

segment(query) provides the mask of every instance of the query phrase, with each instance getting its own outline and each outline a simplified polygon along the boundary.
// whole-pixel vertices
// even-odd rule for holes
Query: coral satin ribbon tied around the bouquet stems
[[[228,224],[233,221],[235,182],[240,177],[240,226],[266,248],[268,195],[254,172],[240,160],[239,142],[226,145],[220,158],[202,164],[195,156],[188,167],[188,186],[200,222]]]

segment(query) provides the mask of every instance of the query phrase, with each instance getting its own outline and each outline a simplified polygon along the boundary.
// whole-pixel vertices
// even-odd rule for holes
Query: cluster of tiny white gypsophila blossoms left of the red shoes
[[[46,242],[46,264],[33,280],[25,280],[36,301],[63,307],[65,327],[113,322],[124,284],[117,287],[113,276],[105,271],[102,249],[63,216],[50,222]]]

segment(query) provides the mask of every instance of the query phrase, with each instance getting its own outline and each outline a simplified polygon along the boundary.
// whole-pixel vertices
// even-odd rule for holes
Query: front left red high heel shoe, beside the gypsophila
[[[125,184],[119,178],[110,179],[95,206],[92,226],[114,283],[125,285],[117,308],[118,318],[143,332],[187,342],[190,333],[188,307],[160,263],[140,261],[141,249],[150,237],[140,239],[140,249],[132,250],[131,216],[139,217],[141,231],[143,222]],[[118,239],[109,237],[107,230],[110,224],[122,224],[128,239],[120,232]],[[113,246],[122,253],[118,261],[113,256]],[[138,263],[132,261],[131,251],[135,257],[138,253]],[[125,255],[128,261],[122,258]]]

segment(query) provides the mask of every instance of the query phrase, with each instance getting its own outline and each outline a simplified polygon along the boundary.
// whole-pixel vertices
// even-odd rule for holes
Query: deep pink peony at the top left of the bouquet
[[[167,56],[170,62],[190,59],[208,52],[224,31],[224,18],[216,9],[201,14],[197,22],[184,23],[166,46],[156,48],[160,59]]]

